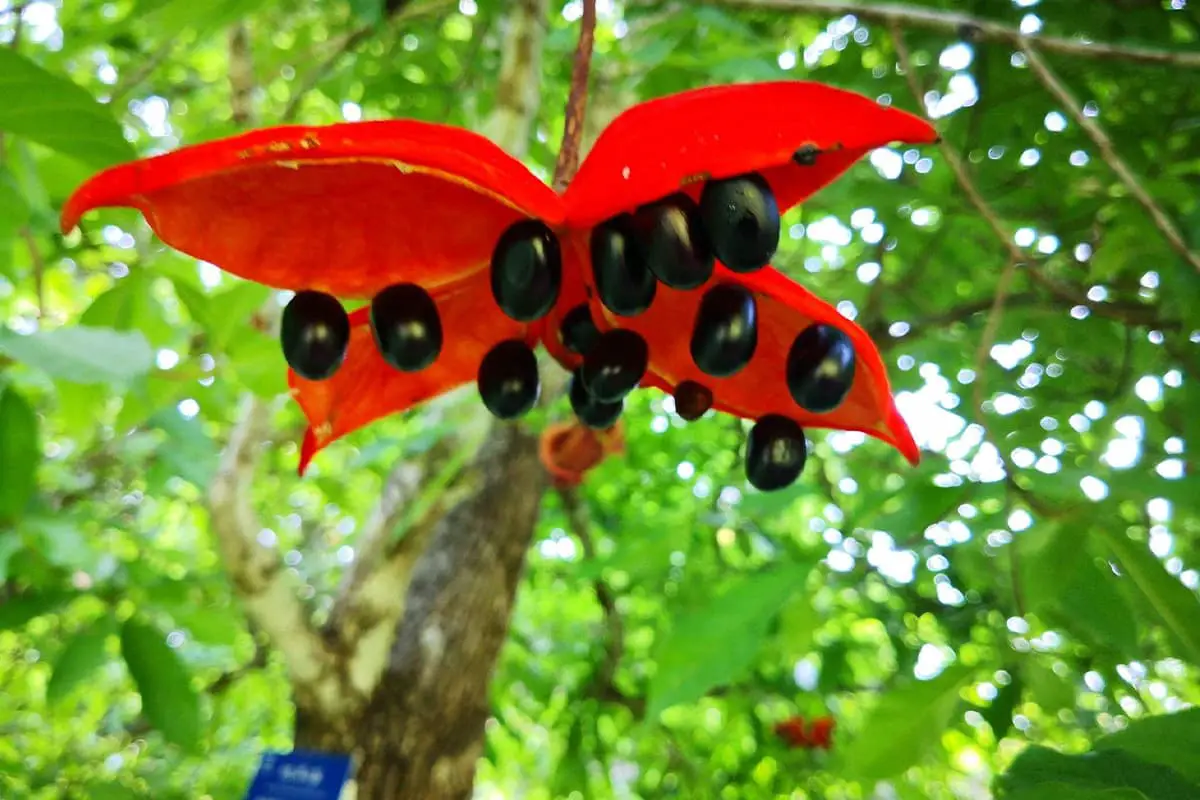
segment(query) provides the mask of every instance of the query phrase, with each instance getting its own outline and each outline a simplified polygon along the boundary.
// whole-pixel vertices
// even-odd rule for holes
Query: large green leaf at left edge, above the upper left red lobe
[[[97,168],[134,157],[109,109],[8,48],[0,49],[0,131]]]

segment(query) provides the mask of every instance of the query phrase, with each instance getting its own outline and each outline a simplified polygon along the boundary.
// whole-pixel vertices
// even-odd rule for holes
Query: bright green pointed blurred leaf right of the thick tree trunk
[[[690,703],[738,678],[758,655],[770,621],[804,585],[810,565],[791,565],[739,577],[707,602],[677,613],[655,649],[647,717]]]

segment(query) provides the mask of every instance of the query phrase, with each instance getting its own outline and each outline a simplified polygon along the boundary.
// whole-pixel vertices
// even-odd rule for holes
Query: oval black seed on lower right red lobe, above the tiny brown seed
[[[704,293],[691,330],[691,360],[707,375],[740,372],[758,347],[758,311],[754,295],[734,283]]]

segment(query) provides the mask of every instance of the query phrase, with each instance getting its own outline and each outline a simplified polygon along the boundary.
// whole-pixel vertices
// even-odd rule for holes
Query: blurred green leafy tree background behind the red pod
[[[814,431],[757,493],[748,423],[647,390],[625,451],[547,491],[528,441],[565,401],[505,432],[469,389],[299,479],[271,293],[132,211],[62,235],[65,198],[401,116],[548,180],[583,5],[10,5],[0,796],[240,798],[293,741],[409,770],[361,798],[1200,796],[1198,4],[598,6],[584,146],[743,80],[934,119],[790,212],[774,261],[872,335],[922,464]]]

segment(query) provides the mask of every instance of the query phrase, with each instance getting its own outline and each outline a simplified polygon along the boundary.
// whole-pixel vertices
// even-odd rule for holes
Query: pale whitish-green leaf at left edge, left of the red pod
[[[140,332],[107,327],[58,327],[26,336],[0,327],[0,353],[77,384],[124,383],[154,365]]]

